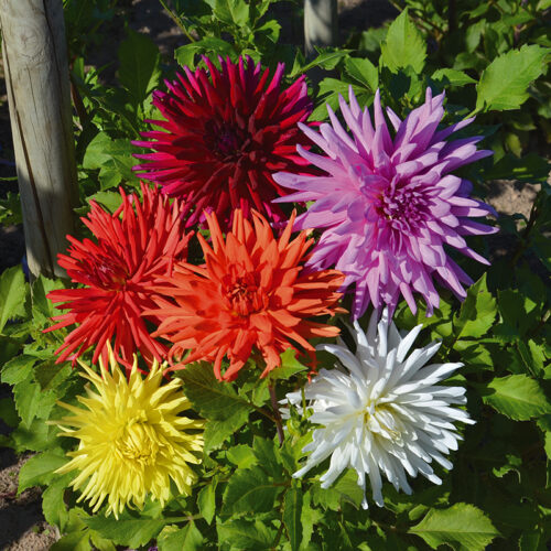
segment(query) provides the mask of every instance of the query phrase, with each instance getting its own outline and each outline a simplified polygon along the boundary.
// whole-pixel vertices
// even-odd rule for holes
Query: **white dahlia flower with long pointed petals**
[[[354,468],[364,489],[365,509],[366,475],[379,507],[383,505],[381,473],[407,494],[411,487],[406,474],[414,477],[421,473],[434,484],[442,483],[432,461],[452,468],[443,454],[457,450],[461,440],[453,423],[474,421],[452,407],[466,403],[464,388],[436,385],[463,364],[424,366],[440,343],[417,348],[407,357],[421,327],[400,336],[385,309],[378,324],[377,311],[371,315],[367,334],[354,322],[355,354],[342,341],[316,347],[336,356],[342,366],[322,369],[304,389],[313,410],[309,420],[322,426],[303,449],[312,454],[294,477],[331,456],[329,468],[320,478],[322,487],[328,488],[345,468]],[[288,393],[283,401],[302,411],[301,392]]]

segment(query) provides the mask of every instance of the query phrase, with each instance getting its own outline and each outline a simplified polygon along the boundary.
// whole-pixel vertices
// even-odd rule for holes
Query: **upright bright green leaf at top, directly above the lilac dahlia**
[[[380,62],[395,73],[408,66],[421,73],[425,57],[426,45],[415,25],[410,21],[406,9],[388,29],[387,37],[381,44]]]

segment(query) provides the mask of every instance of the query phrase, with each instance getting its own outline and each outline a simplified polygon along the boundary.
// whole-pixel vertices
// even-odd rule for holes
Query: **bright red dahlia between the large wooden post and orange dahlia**
[[[97,203],[82,220],[93,233],[90,239],[71,241],[68,255],[58,255],[58,263],[74,283],[84,288],[52,291],[47,298],[57,307],[69,311],[53,317],[58,323],[46,331],[73,329],[56,350],[57,363],[73,364],[87,348],[95,346],[93,363],[107,358],[107,343],[115,337],[118,359],[130,367],[137,350],[149,360],[162,360],[168,348],[150,335],[143,310],[154,306],[152,285],[171,273],[175,260],[186,258],[190,235],[183,231],[177,202],[172,206],[156,190],[141,186],[143,203],[122,190],[122,204],[115,214]],[[155,323],[154,317],[150,321]]]

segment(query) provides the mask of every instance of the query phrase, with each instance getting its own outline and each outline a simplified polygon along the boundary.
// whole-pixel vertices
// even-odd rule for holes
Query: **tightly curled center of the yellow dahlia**
[[[148,423],[143,412],[127,421],[115,445],[119,458],[138,464],[140,467],[154,465],[160,447],[156,433]]]

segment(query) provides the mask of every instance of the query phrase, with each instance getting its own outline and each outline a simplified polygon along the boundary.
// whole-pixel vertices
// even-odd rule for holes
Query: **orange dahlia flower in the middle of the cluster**
[[[145,313],[161,320],[154,335],[174,343],[170,357],[181,364],[173,369],[214,361],[218,379],[234,380],[251,354],[260,353],[264,377],[281,364],[287,348],[313,353],[309,338],[338,334],[337,327],[309,317],[341,311],[336,303],[343,274],[304,273],[301,262],[312,240],[305,233],[290,240],[294,214],[278,239],[266,218],[255,210],[252,217],[251,224],[236,210],[224,240],[216,215],[207,214],[212,246],[197,236],[205,264],[177,263],[168,285],[154,288],[168,300],[155,299],[160,309]],[[225,356],[229,367],[223,375]]]

